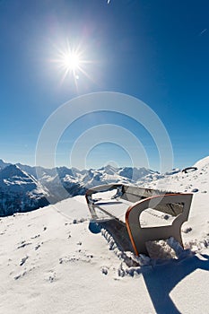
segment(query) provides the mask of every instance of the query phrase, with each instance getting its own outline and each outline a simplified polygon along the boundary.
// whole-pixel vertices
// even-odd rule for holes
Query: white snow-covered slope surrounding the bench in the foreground
[[[177,258],[135,258],[105,230],[92,233],[84,196],[1,218],[0,312],[208,313],[209,158],[196,167],[145,183],[194,192],[185,250],[170,240]]]

